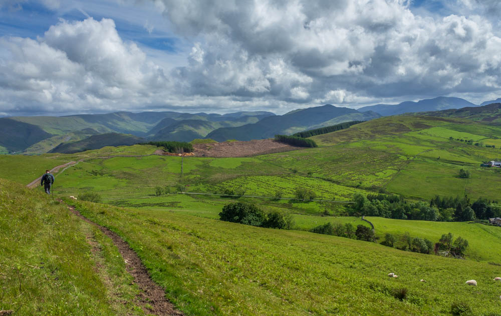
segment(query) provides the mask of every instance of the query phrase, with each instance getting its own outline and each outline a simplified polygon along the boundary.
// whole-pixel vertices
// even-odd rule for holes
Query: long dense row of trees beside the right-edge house
[[[429,203],[409,202],[401,195],[355,193],[352,215],[379,216],[394,219],[430,221],[470,221],[501,217],[501,204],[478,198],[473,203],[468,197],[435,196]]]

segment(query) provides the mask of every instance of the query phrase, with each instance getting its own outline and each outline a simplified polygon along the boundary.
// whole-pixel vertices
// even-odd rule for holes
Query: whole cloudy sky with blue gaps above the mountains
[[[0,116],[501,96],[498,0],[0,0]]]

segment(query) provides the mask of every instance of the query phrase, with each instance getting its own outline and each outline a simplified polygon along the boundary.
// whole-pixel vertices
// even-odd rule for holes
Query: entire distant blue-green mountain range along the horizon
[[[501,101],[486,101],[481,105]],[[191,141],[196,138],[252,140],[291,135],[308,129],[335,125],[347,121],[367,121],[380,116],[409,112],[460,109],[436,115],[466,115],[477,105],[464,99],[438,97],[418,102],[406,101],[396,105],[377,104],[358,110],[324,105],[297,109],[284,115],[271,112],[235,112],[228,114],[179,112],[115,112],[62,117],[33,116],[0,118],[0,153],[41,154],[56,150],[73,151],[96,146],[130,143],[137,139]],[[461,112],[462,111],[462,112]],[[468,113],[469,113],[468,112]],[[461,114],[462,113],[462,114]],[[429,115],[429,114],[424,114]],[[433,114],[431,114],[433,115]],[[492,119],[492,117],[495,117]],[[497,122],[494,114],[478,114],[479,120]],[[95,137],[107,134],[103,137]],[[125,135],[124,134],[131,134]],[[87,138],[91,138],[90,141]],[[87,141],[87,143],[86,143]],[[74,143],[70,146],[71,143]],[[92,144],[92,146],[91,146]],[[55,149],[57,148],[57,149]]]

